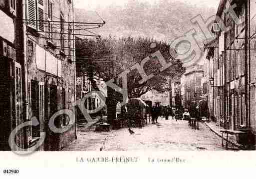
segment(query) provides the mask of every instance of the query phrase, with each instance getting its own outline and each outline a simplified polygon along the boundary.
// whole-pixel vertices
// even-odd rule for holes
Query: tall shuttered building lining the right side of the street
[[[234,8],[235,15],[228,9]],[[212,73],[213,119],[226,129],[243,130],[255,143],[256,131],[256,0],[221,0],[215,40],[205,45]],[[210,104],[209,104],[210,105]]]

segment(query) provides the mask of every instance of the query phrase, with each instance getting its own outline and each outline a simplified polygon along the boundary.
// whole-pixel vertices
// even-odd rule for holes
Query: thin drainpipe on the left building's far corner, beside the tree
[[[75,60],[75,33],[74,33],[74,0],[72,0],[72,13],[73,13],[73,56],[74,56],[74,103],[75,103],[75,108],[74,108],[74,112],[75,112],[75,139],[77,139],[77,133],[76,133],[76,60]]]

